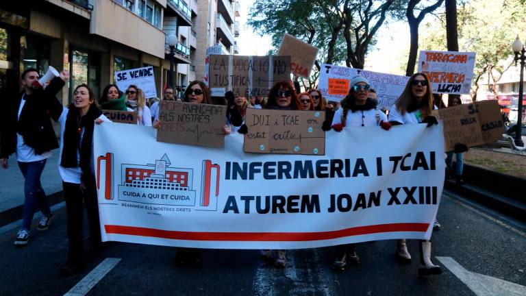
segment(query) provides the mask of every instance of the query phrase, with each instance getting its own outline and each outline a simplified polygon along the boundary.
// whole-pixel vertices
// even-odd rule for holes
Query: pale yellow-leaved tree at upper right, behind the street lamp
[[[473,101],[477,100],[477,90],[481,79],[488,79],[492,91],[501,74],[510,66],[511,43],[517,34],[526,31],[526,5],[524,0],[471,0],[458,7],[458,45],[461,51],[477,53],[473,76]],[[495,16],[498,17],[495,17]],[[424,49],[447,50],[444,47],[444,21],[429,23],[425,28],[425,38],[421,43]]]

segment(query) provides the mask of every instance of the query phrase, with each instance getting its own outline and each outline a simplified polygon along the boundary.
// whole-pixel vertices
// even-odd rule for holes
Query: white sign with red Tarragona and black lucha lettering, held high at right
[[[474,52],[420,51],[418,57],[418,72],[429,77],[433,93],[468,95],[474,66]]]

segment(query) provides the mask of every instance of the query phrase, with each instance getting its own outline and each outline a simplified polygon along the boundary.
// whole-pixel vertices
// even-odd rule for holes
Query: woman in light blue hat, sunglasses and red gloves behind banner
[[[376,108],[375,102],[368,97],[369,81],[360,75],[355,76],[349,82],[351,89],[345,99],[342,100],[342,108],[336,110],[332,127],[336,132],[341,132],[343,127],[368,127],[379,126],[384,130],[389,130],[391,125],[387,121],[387,116]],[[349,112],[350,111],[350,112]],[[337,245],[336,260],[333,268],[338,271],[345,270],[347,261],[351,264],[360,263],[360,258],[356,254],[355,245]]]

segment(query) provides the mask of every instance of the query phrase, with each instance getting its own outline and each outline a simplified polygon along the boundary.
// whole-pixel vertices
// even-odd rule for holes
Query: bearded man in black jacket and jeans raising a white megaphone
[[[56,93],[68,79],[68,73],[62,71],[60,77],[52,79],[45,89],[38,83],[38,78],[36,69],[26,69],[21,75],[23,92],[18,97],[3,98],[7,101],[7,106],[0,133],[0,163],[3,169],[8,169],[8,158],[16,152],[18,167],[25,179],[22,227],[16,234],[16,247],[29,243],[29,232],[37,205],[43,214],[37,229],[47,230],[53,221],[40,175],[47,158],[51,157],[51,150],[58,148],[57,136],[49,118],[60,114],[62,106],[52,103]]]

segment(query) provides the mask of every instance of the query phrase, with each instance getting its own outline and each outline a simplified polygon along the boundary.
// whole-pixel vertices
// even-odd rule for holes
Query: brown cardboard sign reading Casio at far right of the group
[[[432,114],[444,123],[445,151],[454,150],[457,143],[467,147],[491,144],[505,132],[497,101],[479,101],[434,110]]]

